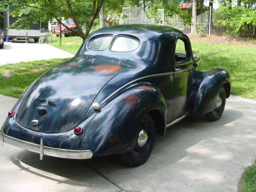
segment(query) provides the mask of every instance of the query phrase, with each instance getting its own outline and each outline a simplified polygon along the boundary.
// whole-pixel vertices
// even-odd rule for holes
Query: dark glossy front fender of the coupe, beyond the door
[[[205,114],[216,108],[218,94],[222,87],[226,97],[230,96],[230,75],[226,70],[216,68],[208,71],[197,71],[197,91],[192,113]]]

